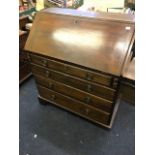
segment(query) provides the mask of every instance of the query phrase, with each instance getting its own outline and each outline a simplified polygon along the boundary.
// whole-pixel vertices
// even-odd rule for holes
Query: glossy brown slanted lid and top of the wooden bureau
[[[134,16],[50,8],[38,12],[25,49],[120,76]]]

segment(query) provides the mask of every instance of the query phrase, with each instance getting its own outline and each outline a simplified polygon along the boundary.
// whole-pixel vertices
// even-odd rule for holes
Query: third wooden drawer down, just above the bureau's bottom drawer
[[[41,76],[36,77],[36,81],[39,85],[47,87],[51,90],[59,92],[61,94],[67,95],[69,97],[75,98],[87,105],[93,106],[100,110],[111,112],[112,111],[112,102],[104,100],[100,97],[96,97],[79,89],[75,89],[68,85],[62,84],[60,82],[44,78]]]

